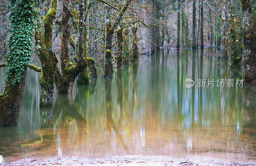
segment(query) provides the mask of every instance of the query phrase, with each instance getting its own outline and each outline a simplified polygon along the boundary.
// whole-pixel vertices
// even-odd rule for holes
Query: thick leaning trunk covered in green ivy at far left
[[[0,126],[18,124],[27,66],[32,54],[33,2],[32,0],[10,1],[10,51],[5,57],[7,71],[4,93],[0,95]]]

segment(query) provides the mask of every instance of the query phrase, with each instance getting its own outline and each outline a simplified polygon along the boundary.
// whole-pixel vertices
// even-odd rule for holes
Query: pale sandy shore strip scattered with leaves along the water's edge
[[[84,157],[57,157],[51,159],[36,160],[33,158],[21,159],[2,163],[0,166],[12,165],[195,165],[195,166],[256,166],[255,162],[233,162],[224,159],[213,159],[203,157],[182,157],[174,158],[168,156],[141,156],[141,155],[120,155],[104,158],[84,158]]]

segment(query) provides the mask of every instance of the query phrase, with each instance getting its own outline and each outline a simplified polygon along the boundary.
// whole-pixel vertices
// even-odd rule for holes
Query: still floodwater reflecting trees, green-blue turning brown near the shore
[[[214,52],[158,51],[112,79],[98,66],[90,85],[75,84],[72,95],[55,90],[50,110],[39,109],[40,73],[29,70],[18,127],[0,128],[0,163],[121,154],[256,161],[256,89],[185,87],[186,78],[242,79]]]

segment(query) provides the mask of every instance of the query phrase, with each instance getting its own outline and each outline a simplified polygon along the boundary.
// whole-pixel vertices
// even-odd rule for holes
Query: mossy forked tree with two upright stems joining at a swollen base
[[[60,74],[58,68],[56,68],[54,74],[57,93],[61,94],[72,93],[76,76],[87,66],[87,59],[84,59],[84,0],[79,0],[78,55],[75,65],[69,59],[71,16],[69,0],[62,0],[62,35],[60,43],[60,66],[62,74]]]

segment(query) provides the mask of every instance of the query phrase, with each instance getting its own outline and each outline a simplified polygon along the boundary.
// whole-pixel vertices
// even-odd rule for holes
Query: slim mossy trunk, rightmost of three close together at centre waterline
[[[139,59],[139,49],[138,49],[138,40],[137,40],[137,24],[132,25],[132,61],[138,61]]]

